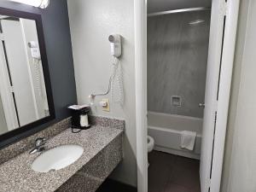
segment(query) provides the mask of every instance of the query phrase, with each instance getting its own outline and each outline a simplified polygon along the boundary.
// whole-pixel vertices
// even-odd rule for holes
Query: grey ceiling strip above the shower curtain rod
[[[211,7],[212,0],[148,0],[148,13],[166,10]]]

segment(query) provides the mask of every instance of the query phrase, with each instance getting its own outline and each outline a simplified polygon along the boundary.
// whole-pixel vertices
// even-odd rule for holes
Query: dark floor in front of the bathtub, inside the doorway
[[[152,151],[148,161],[148,192],[201,192],[199,160]]]

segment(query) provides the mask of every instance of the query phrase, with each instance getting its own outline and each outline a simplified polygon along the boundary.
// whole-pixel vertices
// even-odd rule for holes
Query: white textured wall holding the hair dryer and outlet
[[[78,101],[88,103],[91,93],[105,91],[112,73],[112,57],[108,36],[119,33],[123,37],[121,65],[124,73],[125,104],[123,108],[110,103],[110,112],[97,107],[96,115],[125,119],[125,157],[113,172],[113,178],[137,185],[135,68],[133,0],[69,0],[68,12],[73,44],[73,61]],[[102,98],[96,98],[96,103]]]

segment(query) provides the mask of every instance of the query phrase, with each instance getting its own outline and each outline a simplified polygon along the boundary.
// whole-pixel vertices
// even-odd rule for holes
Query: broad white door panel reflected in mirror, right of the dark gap
[[[19,20],[1,20],[1,25],[20,125],[27,125],[37,119],[37,110],[32,94],[32,78],[28,68],[26,44]]]

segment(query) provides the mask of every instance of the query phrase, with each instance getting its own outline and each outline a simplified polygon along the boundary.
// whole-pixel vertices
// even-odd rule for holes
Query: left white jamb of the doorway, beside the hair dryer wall
[[[148,191],[147,0],[134,0],[137,191]]]

